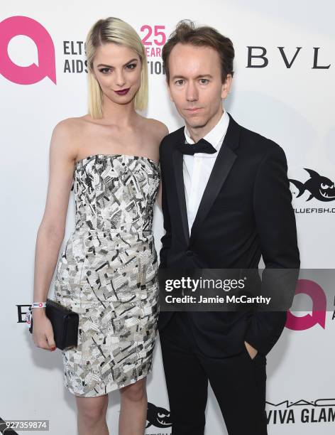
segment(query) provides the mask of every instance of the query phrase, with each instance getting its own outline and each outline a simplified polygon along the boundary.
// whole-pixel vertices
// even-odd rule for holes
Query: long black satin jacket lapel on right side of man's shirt
[[[190,236],[191,240],[195,237],[199,230],[199,227],[202,225],[202,222],[207,217],[207,214],[209,213],[209,210],[211,209],[214,200],[216,199],[216,196],[219,194],[222,186],[224,186],[224,182],[226,181],[226,178],[231,171],[232,166],[234,165],[237,157],[234,149],[238,147],[239,136],[240,127],[229,114],[229,125],[226,131],[226,136],[224,136],[224,142],[221,146],[218,156],[216,157],[212,173],[209,176],[207,186],[204,190],[204,194],[202,195],[202,200],[200,201],[197,215],[192,225]],[[184,193],[184,189],[182,189],[182,192]]]

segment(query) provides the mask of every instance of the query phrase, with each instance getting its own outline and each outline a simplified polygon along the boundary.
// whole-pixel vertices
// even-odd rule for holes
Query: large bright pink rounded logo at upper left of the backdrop
[[[38,65],[16,65],[8,54],[12,38],[24,35],[31,38],[38,50]],[[28,16],[11,16],[0,23],[0,73],[18,85],[32,85],[49,77],[56,83],[55,47],[48,31],[38,21]]]

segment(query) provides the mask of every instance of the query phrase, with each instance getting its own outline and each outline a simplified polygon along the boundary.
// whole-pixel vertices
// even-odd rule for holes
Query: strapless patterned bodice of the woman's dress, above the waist
[[[75,229],[150,231],[160,183],[143,156],[94,154],[75,163]]]

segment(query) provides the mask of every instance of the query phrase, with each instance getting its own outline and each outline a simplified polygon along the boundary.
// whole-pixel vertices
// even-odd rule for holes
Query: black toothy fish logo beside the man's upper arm
[[[295,185],[299,190],[297,198],[299,198],[306,190],[309,192],[309,198],[307,201],[315,198],[319,201],[334,201],[335,200],[335,188],[333,181],[324,176],[320,176],[317,171],[304,168],[309,173],[310,178],[302,183],[298,180],[291,180],[290,182]]]

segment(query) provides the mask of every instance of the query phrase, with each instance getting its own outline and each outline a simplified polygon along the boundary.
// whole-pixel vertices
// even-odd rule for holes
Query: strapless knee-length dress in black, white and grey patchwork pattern
[[[147,157],[95,154],[75,163],[75,230],[57,263],[54,298],[79,313],[77,346],[62,350],[72,394],[101,396],[151,371],[159,183],[159,165]]]

